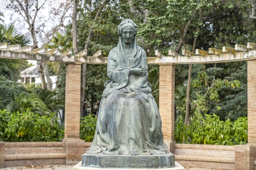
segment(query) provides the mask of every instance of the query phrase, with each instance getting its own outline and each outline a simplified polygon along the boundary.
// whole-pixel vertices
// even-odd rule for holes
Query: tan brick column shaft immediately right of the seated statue
[[[160,64],[159,72],[159,112],[164,141],[170,147],[170,143],[174,141],[175,65]]]

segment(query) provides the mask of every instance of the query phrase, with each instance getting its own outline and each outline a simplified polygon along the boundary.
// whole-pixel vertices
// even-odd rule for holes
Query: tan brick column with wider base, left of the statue
[[[81,161],[84,153],[84,140],[80,133],[80,96],[81,96],[81,63],[67,64],[65,92],[65,135],[66,164]]]

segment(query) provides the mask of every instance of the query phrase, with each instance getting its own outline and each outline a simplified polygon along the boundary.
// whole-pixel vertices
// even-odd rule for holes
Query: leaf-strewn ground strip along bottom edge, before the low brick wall
[[[5,167],[5,168],[0,168],[0,170],[72,170],[73,166],[74,165],[28,165],[23,167]],[[220,170],[220,169],[188,168],[186,170]]]

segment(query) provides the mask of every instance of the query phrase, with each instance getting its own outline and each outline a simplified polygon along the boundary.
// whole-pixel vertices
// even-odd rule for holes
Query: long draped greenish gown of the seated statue
[[[147,65],[145,51],[135,44],[134,55],[118,47],[108,57],[105,90],[99,105],[96,132],[88,154],[151,155],[168,153],[161,118],[151,94],[148,75],[129,74],[129,68]],[[118,66],[126,68],[122,71]]]

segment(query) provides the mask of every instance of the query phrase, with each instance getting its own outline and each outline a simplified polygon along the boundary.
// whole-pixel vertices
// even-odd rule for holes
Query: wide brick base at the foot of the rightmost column
[[[255,170],[256,145],[235,145],[235,170]]]

